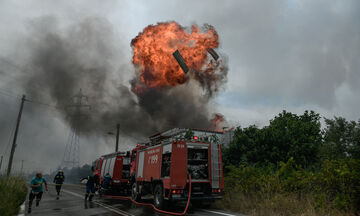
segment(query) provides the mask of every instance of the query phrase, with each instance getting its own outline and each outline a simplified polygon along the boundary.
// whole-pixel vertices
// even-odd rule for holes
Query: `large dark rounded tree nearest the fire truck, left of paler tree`
[[[224,160],[226,164],[278,164],[294,158],[297,164],[308,166],[318,160],[321,142],[319,114],[305,111],[299,116],[283,111],[261,129],[236,128]]]

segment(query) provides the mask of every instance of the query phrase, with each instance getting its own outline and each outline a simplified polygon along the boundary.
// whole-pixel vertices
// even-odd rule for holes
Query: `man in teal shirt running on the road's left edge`
[[[46,180],[42,177],[42,173],[38,172],[36,173],[36,176],[31,180],[30,182],[30,187],[31,187],[31,191],[29,194],[29,209],[28,209],[28,213],[31,213],[31,205],[32,202],[34,200],[34,198],[36,197],[36,206],[39,206],[42,194],[43,194],[43,187],[42,184],[45,184],[45,190],[47,191],[47,182]]]

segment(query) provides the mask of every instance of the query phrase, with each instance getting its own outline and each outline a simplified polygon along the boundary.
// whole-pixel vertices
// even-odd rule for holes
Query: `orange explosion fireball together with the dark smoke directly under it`
[[[218,46],[219,36],[211,25],[185,28],[174,21],[149,25],[131,41],[136,71],[131,90],[157,125],[222,130],[224,117],[213,114],[209,119],[208,108],[227,75],[226,58],[214,51]],[[190,69],[187,74],[173,56],[175,51]],[[196,88],[180,86],[190,79],[205,90],[205,97]]]

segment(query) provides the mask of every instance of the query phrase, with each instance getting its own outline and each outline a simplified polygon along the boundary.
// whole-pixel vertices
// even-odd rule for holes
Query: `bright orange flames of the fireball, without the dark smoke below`
[[[219,46],[218,34],[210,25],[202,29],[193,25],[191,32],[176,22],[149,25],[131,41],[131,46],[132,63],[140,69],[132,89],[136,93],[141,93],[145,86],[162,88],[186,82],[186,75],[172,56],[176,50],[189,68],[204,72],[205,76],[219,65],[207,60],[207,49]]]

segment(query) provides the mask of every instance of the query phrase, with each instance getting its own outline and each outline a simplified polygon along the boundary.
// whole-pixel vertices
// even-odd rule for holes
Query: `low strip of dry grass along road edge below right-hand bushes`
[[[315,199],[306,195],[301,198],[296,194],[275,194],[273,196],[244,196],[225,194],[223,200],[215,203],[215,208],[225,209],[253,216],[347,216],[353,213],[339,211],[330,207],[316,208]]]

